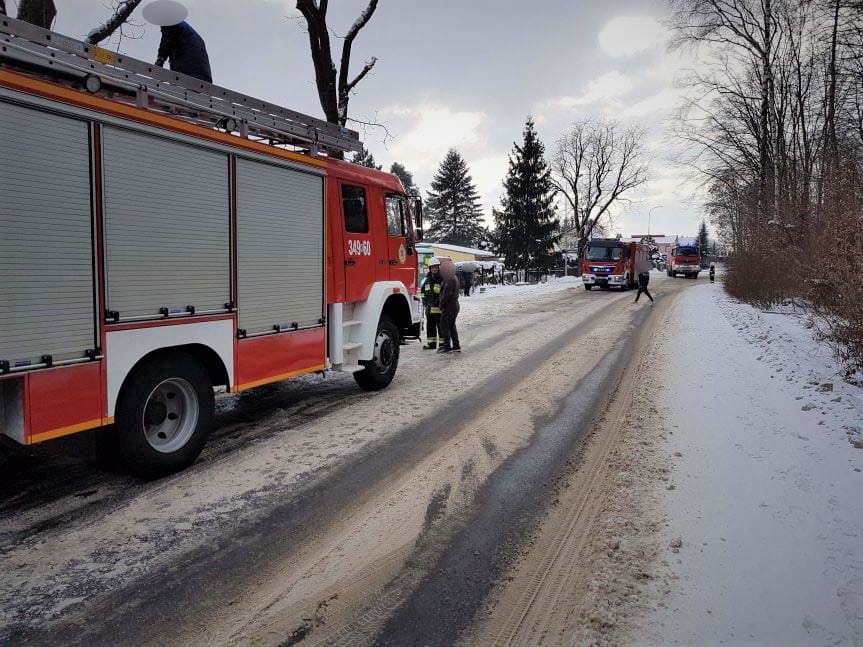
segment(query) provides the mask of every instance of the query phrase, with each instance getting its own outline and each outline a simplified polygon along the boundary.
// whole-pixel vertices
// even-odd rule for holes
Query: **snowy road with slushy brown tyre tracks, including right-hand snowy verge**
[[[223,396],[159,482],[2,459],[0,641],[863,644],[863,389],[805,317],[653,279],[465,299],[378,394]]]

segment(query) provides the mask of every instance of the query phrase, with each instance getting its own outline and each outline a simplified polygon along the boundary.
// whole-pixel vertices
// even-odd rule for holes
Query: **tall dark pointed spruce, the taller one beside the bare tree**
[[[509,156],[503,186],[502,209],[494,211],[498,253],[511,268],[548,269],[553,261],[552,248],[560,239],[559,223],[545,146],[530,117],[521,146],[515,144]]]

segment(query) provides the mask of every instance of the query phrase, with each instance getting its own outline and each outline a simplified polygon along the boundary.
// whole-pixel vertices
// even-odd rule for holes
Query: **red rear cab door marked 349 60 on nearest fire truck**
[[[368,189],[342,182],[340,193],[345,301],[364,301],[375,282],[376,256],[385,251],[374,249]]]

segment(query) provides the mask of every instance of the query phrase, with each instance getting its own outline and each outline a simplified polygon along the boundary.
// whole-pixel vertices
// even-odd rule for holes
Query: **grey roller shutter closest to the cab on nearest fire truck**
[[[239,327],[321,325],[323,177],[237,160]]]

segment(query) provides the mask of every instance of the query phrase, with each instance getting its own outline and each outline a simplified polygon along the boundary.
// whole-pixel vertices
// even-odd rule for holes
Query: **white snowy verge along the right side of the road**
[[[719,286],[659,347],[671,579],[640,642],[863,644],[863,389],[804,316]]]

